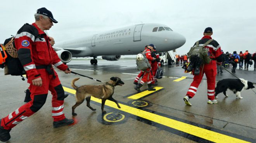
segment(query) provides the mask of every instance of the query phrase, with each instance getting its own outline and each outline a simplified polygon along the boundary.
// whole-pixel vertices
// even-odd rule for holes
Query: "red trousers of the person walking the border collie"
[[[205,73],[207,78],[207,96],[209,100],[215,99],[215,80],[216,80],[216,61],[211,61],[209,64],[205,64],[204,68],[202,70],[202,67],[200,68],[200,74],[194,75],[194,80],[191,83],[189,90],[187,92],[187,95],[189,97],[194,97],[195,93],[197,92],[197,88],[199,84],[201,83],[202,77]]]

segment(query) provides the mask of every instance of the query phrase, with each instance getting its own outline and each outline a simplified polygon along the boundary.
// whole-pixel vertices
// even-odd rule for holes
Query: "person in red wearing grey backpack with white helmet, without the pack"
[[[154,51],[154,48],[152,46],[147,46],[147,49],[145,49],[143,52],[146,55],[147,60],[149,61],[150,65],[151,65],[151,61],[156,60],[156,58],[152,58],[151,56],[151,52]],[[154,89],[152,87],[152,72],[151,72],[151,67],[147,68],[146,70],[143,70],[143,77],[142,80],[140,80],[140,83],[138,83],[138,85],[136,85],[136,87],[134,87],[135,90],[137,90],[138,92],[140,92],[140,87],[143,86],[144,83],[147,83],[148,87],[149,87],[149,91],[155,91],[156,89]]]

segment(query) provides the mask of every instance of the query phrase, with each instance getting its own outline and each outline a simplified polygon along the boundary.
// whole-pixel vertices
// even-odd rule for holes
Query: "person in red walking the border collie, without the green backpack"
[[[201,40],[198,41],[198,46],[203,46],[205,43],[208,43],[209,40],[212,39],[213,29],[211,27],[207,27],[204,30],[204,36]],[[197,45],[197,42],[194,44],[194,46]],[[215,99],[214,92],[215,92],[215,80],[216,80],[216,60],[217,64],[221,65],[222,62],[222,52],[221,47],[219,43],[215,40],[212,40],[209,44],[204,46],[204,48],[208,49],[208,55],[210,55],[209,58],[211,58],[211,61],[209,63],[204,64],[200,67],[200,73],[198,75],[194,74],[194,70],[192,74],[194,75],[193,82],[191,83],[189,90],[186,94],[186,96],[183,98],[185,104],[192,106],[190,103],[190,99],[194,97],[195,93],[197,92],[197,88],[199,84],[201,83],[202,77],[204,73],[206,74],[207,78],[207,96],[208,96],[208,104],[216,104],[218,101]]]

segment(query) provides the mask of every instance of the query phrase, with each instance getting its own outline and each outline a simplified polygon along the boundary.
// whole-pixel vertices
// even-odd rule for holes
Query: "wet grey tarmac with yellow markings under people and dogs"
[[[148,92],[144,85],[142,94],[133,89],[133,80],[138,71],[134,60],[105,61],[98,60],[98,65],[90,65],[89,60],[73,60],[67,64],[74,72],[109,81],[119,77],[125,85],[115,87],[114,102],[106,102],[106,114],[100,109],[101,101],[92,98],[91,106],[86,103],[76,108],[75,124],[53,128],[51,117],[51,95],[47,102],[33,116],[28,117],[10,132],[10,143],[21,142],[85,142],[85,143],[152,143],[152,142],[256,142],[256,94],[253,90],[244,90],[241,96],[228,91],[229,97],[219,95],[218,104],[207,104],[207,83],[202,80],[197,94],[191,99],[192,106],[186,106],[183,97],[192,82],[192,75],[184,73],[181,66],[164,66],[164,76],[159,79],[156,92]],[[231,68],[228,68],[231,70]],[[71,80],[80,77],[76,85],[99,85],[100,82],[74,74],[65,74],[56,70],[65,92],[69,96],[64,102],[67,118],[72,118],[71,107],[75,104],[75,90]],[[253,68],[237,69],[238,77],[256,83]],[[180,77],[183,78],[179,82]],[[223,70],[217,80],[235,78]],[[24,90],[29,86],[21,77],[5,76],[0,70],[0,117],[24,104]],[[255,91],[256,89],[254,89]]]

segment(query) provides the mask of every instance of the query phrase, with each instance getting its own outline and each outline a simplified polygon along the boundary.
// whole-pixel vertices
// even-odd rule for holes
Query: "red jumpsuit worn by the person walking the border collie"
[[[204,44],[206,43],[206,41],[208,41],[209,39],[212,39],[210,36],[204,36],[202,37],[202,39],[199,41],[199,46],[200,44]],[[209,49],[209,55],[213,55],[211,56],[211,58],[217,58],[218,56],[220,56],[222,54],[221,52],[221,48],[220,45],[217,43],[217,41],[212,41],[211,43],[209,43],[208,45],[205,46],[205,48]],[[208,88],[208,92],[207,92],[207,96],[209,100],[214,100],[215,99],[215,80],[216,80],[216,61],[215,60],[211,60],[211,62],[209,64],[204,64],[204,68],[202,69],[202,66],[200,68],[200,74],[199,75],[194,75],[194,70],[193,70],[193,75],[194,75],[194,80],[191,83],[189,90],[187,92],[187,96],[189,96],[190,98],[194,97],[195,93],[197,92],[197,88],[199,86],[199,84],[201,83],[202,77],[205,73],[206,78],[207,78],[207,88]]]

